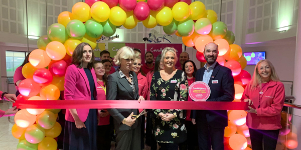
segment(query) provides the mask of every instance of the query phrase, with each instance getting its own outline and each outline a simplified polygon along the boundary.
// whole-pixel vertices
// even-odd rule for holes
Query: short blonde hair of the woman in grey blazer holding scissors
[[[123,59],[135,59],[135,52],[134,50],[131,48],[131,47],[128,47],[128,46],[123,46],[121,47],[116,55],[114,56],[114,63],[119,66],[120,63],[121,63],[121,58]]]

